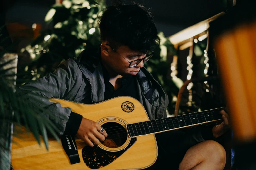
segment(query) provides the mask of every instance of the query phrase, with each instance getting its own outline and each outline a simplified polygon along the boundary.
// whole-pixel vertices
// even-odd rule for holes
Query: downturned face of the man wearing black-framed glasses
[[[135,67],[129,68],[131,61],[144,58],[146,54],[138,51],[131,50],[128,46],[120,46],[118,49],[113,50],[107,44],[101,46],[101,57],[104,66],[107,66],[113,73],[119,75],[136,75],[140,68],[143,67],[143,61],[141,61]],[[129,61],[129,62],[128,62]]]

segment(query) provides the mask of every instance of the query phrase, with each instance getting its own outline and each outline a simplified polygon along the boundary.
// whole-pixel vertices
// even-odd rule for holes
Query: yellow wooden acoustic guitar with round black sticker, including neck
[[[149,120],[145,108],[132,97],[116,97],[97,104],[56,98],[49,100],[97,122],[108,137],[99,145],[90,147],[67,134],[61,138],[62,145],[49,139],[47,151],[38,145],[33,135],[23,134],[22,138],[13,139],[11,161],[14,170],[144,169],[157,159],[154,134],[221,120],[219,111],[222,109]]]

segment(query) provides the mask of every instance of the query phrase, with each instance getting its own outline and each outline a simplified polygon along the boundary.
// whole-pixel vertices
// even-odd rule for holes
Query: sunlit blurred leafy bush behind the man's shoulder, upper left
[[[21,69],[31,72],[32,80],[53,72],[61,61],[76,58],[82,50],[99,46],[97,15],[105,5],[103,0],[98,0],[96,5],[92,2],[64,0],[62,4],[51,7],[45,22],[52,24],[53,28],[42,31],[21,49],[23,55],[30,56],[28,64]]]

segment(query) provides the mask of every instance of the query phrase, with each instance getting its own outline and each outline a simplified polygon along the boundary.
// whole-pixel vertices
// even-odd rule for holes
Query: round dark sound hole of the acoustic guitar
[[[108,148],[118,148],[126,142],[127,131],[121,124],[108,122],[101,126],[108,133],[108,137],[105,138],[105,141],[101,142],[104,146]]]

